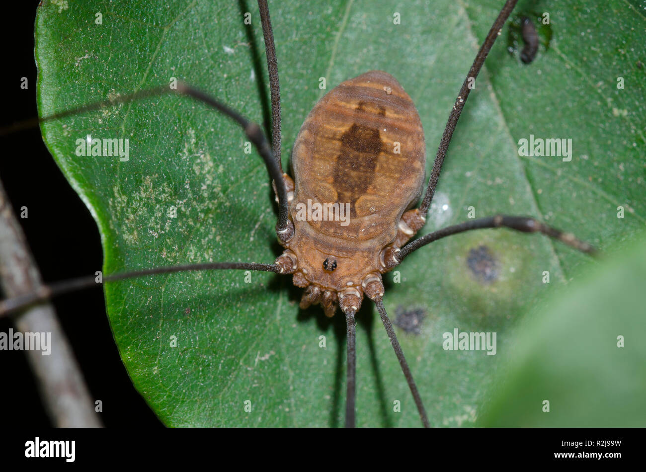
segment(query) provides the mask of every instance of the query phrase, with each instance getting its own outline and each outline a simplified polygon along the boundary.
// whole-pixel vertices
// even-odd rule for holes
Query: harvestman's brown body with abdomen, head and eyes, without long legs
[[[286,251],[276,260],[282,273],[306,291],[301,308],[321,303],[332,316],[356,312],[364,292],[381,296],[385,261],[424,224],[417,210],[426,145],[412,99],[386,72],[371,71],[343,82],[310,112],[293,151],[296,180],[290,205],[294,224]],[[294,182],[285,175],[287,189]],[[297,205],[338,203],[349,207],[348,225],[300,220]],[[403,216],[402,216],[403,214]]]

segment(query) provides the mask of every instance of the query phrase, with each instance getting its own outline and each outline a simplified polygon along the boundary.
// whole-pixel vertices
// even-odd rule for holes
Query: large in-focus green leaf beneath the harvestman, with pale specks
[[[302,121],[325,92],[319,77],[330,90],[380,69],[394,74],[417,104],[428,175],[455,95],[502,3],[465,9],[450,0],[271,2],[284,167]],[[530,65],[508,54],[506,32],[494,45],[453,136],[422,234],[466,220],[468,207],[477,217],[536,216],[602,249],[643,227],[643,11],[636,2],[579,0],[521,2],[514,15],[545,11],[552,39]],[[244,25],[245,12],[251,26]],[[393,24],[395,12],[401,25]],[[269,117],[262,30],[251,1],[43,0],[36,39],[43,116],[177,77],[255,121]],[[618,76],[623,90],[616,88]],[[129,138],[129,160],[76,156],[76,139],[87,134]],[[572,161],[519,157],[517,142],[530,134],[572,138]],[[96,218],[105,273],[211,260],[273,262],[280,253],[262,161],[255,152],[244,154],[239,128],[198,103],[171,96],[128,103],[47,123],[43,136]],[[526,309],[587,260],[541,236],[474,231],[407,258],[397,268],[401,282],[397,274],[386,276],[391,317],[425,315],[419,334],[397,334],[432,424],[473,424],[499,362],[483,351],[444,351],[443,333],[495,331],[497,350],[505,351]],[[344,320],[338,314],[327,320],[318,307],[300,311],[299,299],[289,278],[254,273],[245,283],[239,271],[106,287],[123,362],[169,426],[342,425]],[[419,426],[370,302],[359,318],[358,424]],[[395,400],[401,413],[393,411]]]

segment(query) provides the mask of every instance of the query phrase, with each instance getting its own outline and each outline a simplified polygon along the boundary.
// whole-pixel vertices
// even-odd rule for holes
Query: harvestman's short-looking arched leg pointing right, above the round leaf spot
[[[574,249],[578,249],[581,252],[586,252],[587,254],[596,253],[594,246],[586,243],[585,241],[578,240],[571,232],[560,231],[528,216],[496,215],[488,216],[486,218],[478,218],[477,220],[464,221],[464,223],[447,226],[446,228],[430,232],[426,234],[426,236],[422,236],[422,238],[418,238],[417,240],[412,241],[412,243],[408,243],[402,247],[401,251],[396,252],[393,257],[397,261],[402,262],[408,254],[413,251],[417,251],[417,249],[432,243],[433,241],[446,238],[446,236],[451,236],[452,234],[457,234],[459,232],[484,228],[509,228],[522,232],[541,232],[550,236],[550,238],[562,241],[568,246],[574,247]]]

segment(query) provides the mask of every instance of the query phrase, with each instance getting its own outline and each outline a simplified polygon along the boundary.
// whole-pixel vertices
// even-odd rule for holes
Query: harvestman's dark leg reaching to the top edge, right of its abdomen
[[[431,177],[428,180],[426,194],[424,194],[424,200],[422,200],[422,204],[419,207],[419,213],[424,217],[426,217],[426,213],[431,206],[433,194],[435,194],[435,187],[437,187],[437,181],[440,178],[442,164],[444,163],[444,156],[446,156],[448,145],[451,142],[451,137],[453,136],[453,130],[455,130],[455,125],[457,125],[457,120],[460,118],[464,103],[466,103],[466,99],[471,92],[469,83],[470,81],[475,80],[475,77],[477,77],[480,69],[483,67],[486,56],[487,54],[489,54],[489,50],[494,45],[495,38],[498,37],[501,28],[505,24],[505,21],[514,9],[514,6],[516,6],[516,2],[517,0],[507,0],[507,3],[505,3],[505,6],[503,6],[503,9],[500,11],[498,17],[494,21],[494,25],[489,30],[485,42],[482,46],[480,46],[480,50],[478,51],[477,56],[475,56],[475,61],[471,66],[466,78],[464,79],[460,93],[458,94],[457,99],[455,99],[455,105],[453,105],[453,110],[451,110],[451,114],[448,117],[448,121],[446,122],[446,127],[444,128],[444,133],[442,134],[439,148],[437,149],[437,154],[435,155],[435,162],[433,163]]]

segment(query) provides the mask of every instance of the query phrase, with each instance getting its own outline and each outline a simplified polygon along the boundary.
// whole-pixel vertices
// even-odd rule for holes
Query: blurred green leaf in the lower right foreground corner
[[[644,426],[645,243],[528,314],[480,426]]]

